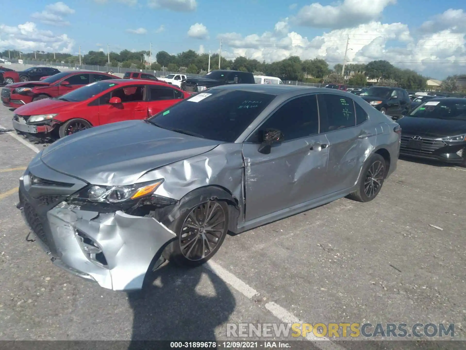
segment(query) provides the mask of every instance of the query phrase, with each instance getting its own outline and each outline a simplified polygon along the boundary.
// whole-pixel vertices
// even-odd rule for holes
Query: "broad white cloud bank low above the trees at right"
[[[283,34],[276,30],[277,27],[280,28],[277,25],[274,32],[264,32],[262,35],[243,36],[233,32],[220,34],[218,38],[224,43],[225,51],[222,55],[228,59],[247,56],[259,61],[273,62],[289,56],[300,56],[302,60],[317,57],[325,59],[332,68],[336,63],[343,63],[349,35],[348,63],[387,60],[400,68],[443,78],[466,69],[466,28],[458,33],[459,28],[463,28],[461,26],[464,25],[464,20],[455,15],[455,20],[446,23],[444,17],[445,13],[435,17],[436,22],[433,24],[429,21],[423,24],[422,28],[443,28],[435,27],[439,23],[444,23],[444,27],[448,26],[434,34],[418,35],[416,29],[410,31],[402,23],[371,21],[353,28],[335,29],[312,39],[296,32]]]

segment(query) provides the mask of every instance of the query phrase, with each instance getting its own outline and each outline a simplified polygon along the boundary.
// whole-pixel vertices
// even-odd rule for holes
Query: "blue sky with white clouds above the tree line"
[[[5,7],[3,7],[5,8]],[[350,62],[387,59],[437,78],[466,73],[466,12],[459,0],[10,1],[0,50],[82,53],[187,49],[266,62],[290,55]]]

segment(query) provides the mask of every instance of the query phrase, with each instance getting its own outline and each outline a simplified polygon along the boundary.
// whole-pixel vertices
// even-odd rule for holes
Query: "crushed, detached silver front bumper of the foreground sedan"
[[[50,174],[53,170],[46,171]],[[42,175],[43,178],[44,173],[39,173],[33,176]],[[44,208],[48,204],[43,200],[44,195],[39,193],[41,196],[38,197],[37,192],[46,186],[42,184],[39,185],[41,189],[34,189],[36,185],[27,180],[29,174],[28,168],[20,181],[17,207],[51,261],[104,288],[116,291],[141,289],[153,259],[176,235],[151,217],[132,216],[123,211],[99,213],[70,206],[58,198],[58,186],[53,189],[57,198],[47,200],[59,203]],[[56,179],[58,181],[58,177]],[[66,179],[62,175],[60,180]]]

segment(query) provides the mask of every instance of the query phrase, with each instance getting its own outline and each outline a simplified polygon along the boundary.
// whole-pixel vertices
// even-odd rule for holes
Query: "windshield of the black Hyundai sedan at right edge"
[[[466,101],[427,100],[412,111],[409,116],[466,120]]]

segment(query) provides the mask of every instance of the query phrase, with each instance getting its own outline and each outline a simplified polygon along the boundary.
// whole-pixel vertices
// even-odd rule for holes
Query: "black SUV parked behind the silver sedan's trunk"
[[[398,119],[411,111],[411,100],[404,89],[389,86],[372,86],[361,95],[372,107]]]

